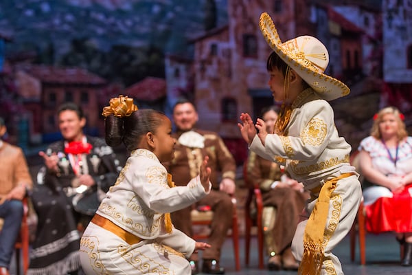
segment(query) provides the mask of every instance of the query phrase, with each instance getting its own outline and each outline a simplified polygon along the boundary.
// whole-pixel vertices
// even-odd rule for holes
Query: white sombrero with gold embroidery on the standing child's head
[[[260,30],[267,43],[314,91],[325,100],[347,96],[349,87],[326,74],[329,54],[325,45],[313,36],[299,36],[282,43],[271,17],[264,12],[260,16]]]

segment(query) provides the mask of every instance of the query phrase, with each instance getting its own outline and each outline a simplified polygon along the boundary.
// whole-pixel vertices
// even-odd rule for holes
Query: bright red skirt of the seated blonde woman
[[[380,197],[365,206],[368,232],[412,232],[412,197],[409,188],[412,188],[412,184],[405,186],[400,193],[393,193],[393,197]]]

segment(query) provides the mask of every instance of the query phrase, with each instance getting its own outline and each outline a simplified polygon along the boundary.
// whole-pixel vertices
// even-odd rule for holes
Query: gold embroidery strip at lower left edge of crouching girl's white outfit
[[[110,275],[106,270],[100,258],[99,238],[97,236],[83,235],[80,239],[80,253],[86,253],[89,256],[90,265],[96,274]]]

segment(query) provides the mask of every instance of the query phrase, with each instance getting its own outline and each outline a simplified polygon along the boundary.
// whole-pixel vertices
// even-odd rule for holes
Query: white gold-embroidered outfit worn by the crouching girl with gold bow
[[[91,274],[190,274],[187,258],[195,241],[172,229],[165,213],[190,206],[207,195],[199,177],[187,186],[168,186],[168,173],[156,155],[133,151],[96,214],[141,239],[127,243],[91,222],[80,241],[80,261]]]

